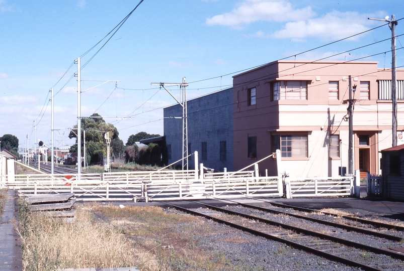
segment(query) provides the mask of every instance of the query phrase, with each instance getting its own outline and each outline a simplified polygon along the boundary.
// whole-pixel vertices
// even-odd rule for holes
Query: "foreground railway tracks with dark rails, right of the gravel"
[[[238,203],[225,208],[198,203],[206,208],[184,208],[175,204],[173,207],[363,270],[404,269],[404,254],[399,252],[404,251],[401,237],[404,234],[397,226],[387,229],[392,225],[379,222],[377,227],[367,229],[366,225],[371,225],[372,221],[365,219],[356,221],[356,226],[330,223],[326,219],[281,211],[272,203],[265,207]]]

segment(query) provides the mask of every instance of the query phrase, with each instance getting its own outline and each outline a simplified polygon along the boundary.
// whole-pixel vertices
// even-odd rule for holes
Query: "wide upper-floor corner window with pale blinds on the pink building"
[[[274,100],[307,99],[307,81],[279,81],[273,83]]]

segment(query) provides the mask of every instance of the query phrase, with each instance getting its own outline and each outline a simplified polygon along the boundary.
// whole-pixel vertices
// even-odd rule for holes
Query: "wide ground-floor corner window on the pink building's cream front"
[[[307,158],[307,135],[273,135],[272,152],[281,151],[281,157]]]

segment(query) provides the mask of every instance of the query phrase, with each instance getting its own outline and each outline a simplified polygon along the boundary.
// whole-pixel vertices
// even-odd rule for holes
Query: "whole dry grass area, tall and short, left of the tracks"
[[[159,207],[85,205],[74,223],[33,215],[21,205],[24,270],[137,266],[144,271],[253,270],[206,247],[206,219]],[[247,242],[228,238],[226,242]],[[254,269],[255,270],[255,269]]]

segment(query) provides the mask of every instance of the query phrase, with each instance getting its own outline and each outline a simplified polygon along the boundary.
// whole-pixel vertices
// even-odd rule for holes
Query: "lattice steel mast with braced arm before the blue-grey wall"
[[[151,83],[163,87],[182,107],[182,170],[188,170],[188,114],[187,114],[187,81],[183,77],[182,83]],[[179,101],[165,86],[180,86],[181,101]]]

